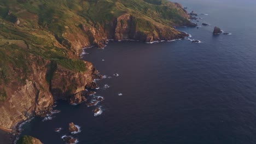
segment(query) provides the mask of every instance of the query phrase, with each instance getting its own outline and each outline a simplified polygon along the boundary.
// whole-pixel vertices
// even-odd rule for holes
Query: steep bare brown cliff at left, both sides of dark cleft
[[[54,100],[69,100],[75,93],[84,91],[85,87],[93,87],[93,79],[97,70],[89,62],[84,62],[85,71],[72,71],[60,64],[49,81],[45,79],[49,73],[50,61],[33,57],[38,63],[30,63],[31,74],[23,83],[15,80],[4,87],[8,97],[0,101],[0,125],[2,129],[15,129],[16,124],[33,116],[45,116],[49,113]],[[33,62],[33,61],[31,61]]]

